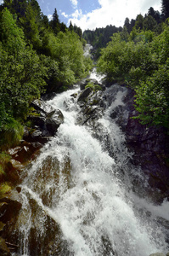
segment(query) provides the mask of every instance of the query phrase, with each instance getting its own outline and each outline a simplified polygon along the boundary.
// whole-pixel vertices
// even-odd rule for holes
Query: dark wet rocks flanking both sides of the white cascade
[[[85,89],[89,82],[99,85],[102,90],[94,90],[94,87]],[[138,119],[132,119],[137,115],[133,107],[134,92],[132,90],[119,84],[105,89],[105,86],[96,80],[84,80],[81,90],[71,96],[72,101],[77,100],[80,107],[76,124],[87,125],[89,129],[93,129],[93,136],[99,137],[98,131],[101,128],[97,121],[102,117],[105,109],[117,100],[117,95],[121,95],[121,104],[114,104],[110,118],[125,134],[127,148],[132,152],[132,165],[141,167],[149,183],[146,192],[154,197],[153,200],[156,203],[163,201],[164,198],[168,199],[169,137],[167,131],[162,128],[141,125]],[[20,145],[8,150],[11,160],[6,168],[6,177],[3,177],[2,181],[11,183],[14,189],[0,197],[1,255],[11,255],[17,247],[14,241],[10,240],[10,233],[14,231],[13,226],[21,207],[18,185],[24,178],[22,170],[37,157],[39,150],[57,134],[59,125],[64,122],[64,116],[60,110],[54,110],[43,100],[32,102],[32,107],[34,113],[28,118],[31,127],[25,127]],[[109,138],[107,140],[109,143]],[[110,154],[111,147],[112,145],[109,148]]]

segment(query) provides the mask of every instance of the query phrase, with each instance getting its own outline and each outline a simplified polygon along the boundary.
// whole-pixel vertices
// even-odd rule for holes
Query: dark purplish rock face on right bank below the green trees
[[[164,197],[169,197],[169,136],[161,127],[141,125],[134,109],[134,91],[115,84],[105,94],[108,107],[123,93],[121,104],[112,108],[110,117],[120,125],[126,134],[127,148],[132,151],[133,163],[141,166],[149,177],[152,188],[161,189]]]

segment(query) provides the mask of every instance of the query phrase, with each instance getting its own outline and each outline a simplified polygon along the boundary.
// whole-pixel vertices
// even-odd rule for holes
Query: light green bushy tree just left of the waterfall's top
[[[55,37],[53,33],[48,35],[48,52],[53,59],[57,84],[69,86],[82,79],[90,66],[83,55],[82,42],[75,32],[59,32]],[[55,62],[54,62],[55,61]],[[51,70],[51,68],[50,68]]]

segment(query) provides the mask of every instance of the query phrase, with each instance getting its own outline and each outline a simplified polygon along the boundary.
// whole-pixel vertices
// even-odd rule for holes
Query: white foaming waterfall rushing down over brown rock
[[[76,125],[78,107],[70,95],[77,90],[48,102],[62,111],[65,122],[25,170],[16,224],[20,247],[14,255],[166,253],[166,230],[158,219],[169,220],[168,202],[155,206],[132,192],[129,176],[144,177],[130,163],[124,134],[110,119],[110,109],[123,104],[125,91],[117,93],[114,105],[99,119],[99,141],[90,128]],[[109,137],[109,150],[104,137]]]

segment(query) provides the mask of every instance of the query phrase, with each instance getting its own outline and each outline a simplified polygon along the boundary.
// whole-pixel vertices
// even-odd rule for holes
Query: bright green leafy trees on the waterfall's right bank
[[[99,72],[110,81],[123,80],[135,92],[136,119],[143,124],[169,129],[169,26],[156,35],[137,32],[134,27],[127,42],[121,34],[101,51]]]

